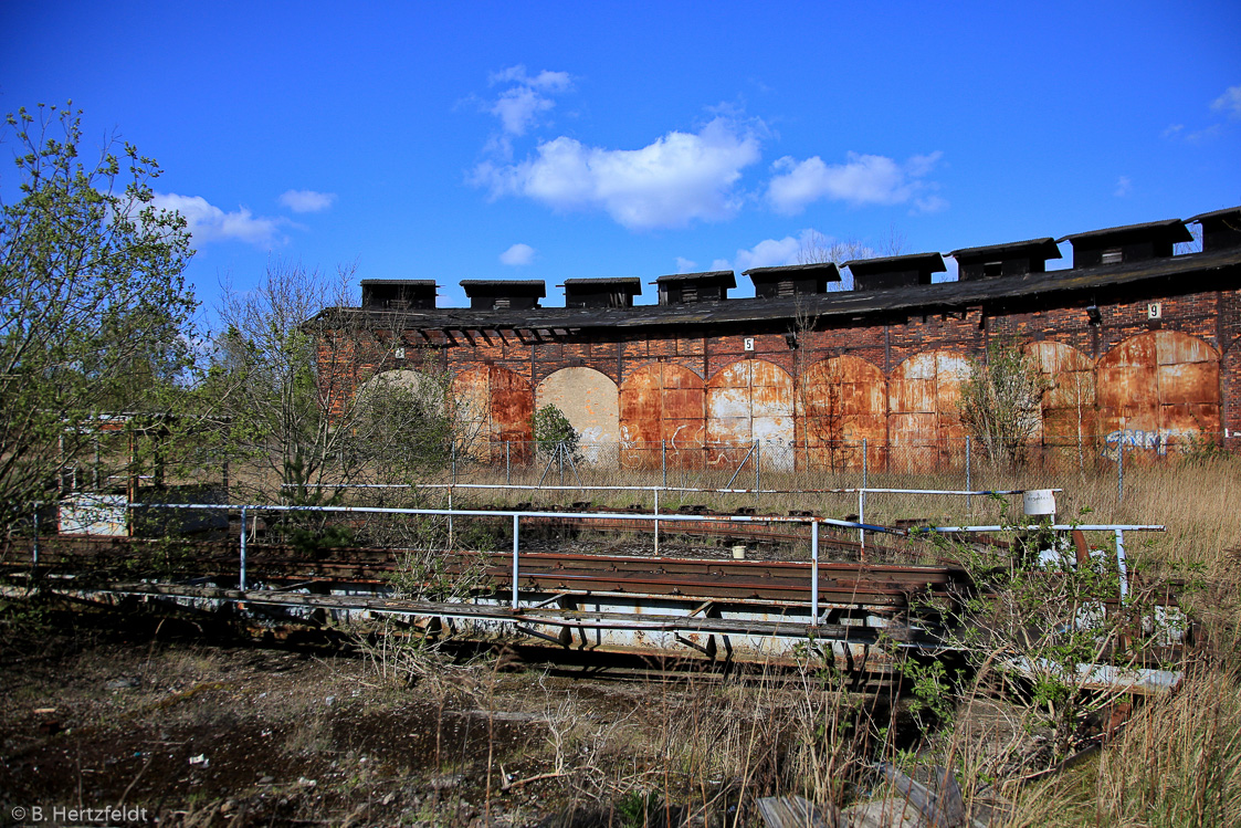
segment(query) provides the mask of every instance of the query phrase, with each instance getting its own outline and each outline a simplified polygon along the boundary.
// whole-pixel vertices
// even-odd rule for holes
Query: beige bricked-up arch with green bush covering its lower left
[[[612,447],[620,439],[617,384],[593,367],[562,367],[544,377],[535,390],[535,407],[560,408],[581,436],[586,459],[614,462]]]

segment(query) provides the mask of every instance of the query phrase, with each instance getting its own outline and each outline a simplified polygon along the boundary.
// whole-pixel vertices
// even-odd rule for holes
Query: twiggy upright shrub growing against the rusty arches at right
[[[961,386],[961,421],[993,463],[1016,470],[1039,433],[1047,382],[1013,340],[992,340],[987,361],[974,362],[973,369]]]

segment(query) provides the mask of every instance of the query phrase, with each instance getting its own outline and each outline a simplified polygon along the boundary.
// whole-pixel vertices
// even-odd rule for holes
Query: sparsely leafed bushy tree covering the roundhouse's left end
[[[447,375],[382,371],[398,345],[374,331],[398,322],[351,308],[351,276],[273,262],[253,290],[225,290],[202,397],[243,497],[323,504],[345,484],[412,483],[449,462]]]

